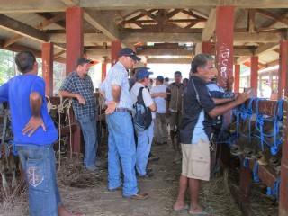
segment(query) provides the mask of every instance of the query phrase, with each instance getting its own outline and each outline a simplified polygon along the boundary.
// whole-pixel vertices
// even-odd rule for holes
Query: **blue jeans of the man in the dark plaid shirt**
[[[96,159],[98,142],[97,142],[97,125],[95,117],[82,117],[78,119],[84,137],[84,166],[94,166]]]

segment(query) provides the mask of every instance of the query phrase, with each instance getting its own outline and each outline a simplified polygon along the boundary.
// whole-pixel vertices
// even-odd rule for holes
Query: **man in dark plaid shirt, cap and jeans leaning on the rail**
[[[88,75],[91,63],[87,58],[78,58],[76,70],[66,77],[58,94],[73,99],[72,107],[85,142],[84,166],[90,172],[98,172],[99,167],[95,166],[98,142],[94,86]]]

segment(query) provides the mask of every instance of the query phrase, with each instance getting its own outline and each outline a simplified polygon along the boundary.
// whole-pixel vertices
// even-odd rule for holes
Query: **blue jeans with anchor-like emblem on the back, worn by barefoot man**
[[[58,216],[61,204],[56,182],[56,162],[52,144],[17,146],[29,188],[31,216]]]

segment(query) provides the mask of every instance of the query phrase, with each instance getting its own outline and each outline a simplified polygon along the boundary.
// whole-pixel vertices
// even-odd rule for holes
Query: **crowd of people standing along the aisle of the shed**
[[[151,146],[167,145],[168,136],[175,154],[181,155],[182,173],[174,211],[210,214],[213,209],[198,202],[201,181],[210,179],[210,139],[213,119],[244,103],[249,94],[229,94],[217,90],[213,83],[214,59],[208,54],[196,55],[191,63],[189,79],[175,71],[175,82],[149,71],[140,58],[128,48],[121,49],[118,62],[110,69],[100,94],[105,98],[108,125],[108,190],[121,190],[123,198],[147,199],[139,192],[137,176],[148,178]],[[23,73],[0,87],[0,102],[10,103],[14,141],[29,185],[31,215],[73,215],[61,203],[56,183],[56,166],[52,143],[58,139],[47,111],[45,82],[38,74],[35,56],[29,51],[16,55],[18,70]],[[83,165],[96,173],[100,163],[96,157],[96,109],[94,85],[88,75],[90,60],[79,58],[58,94],[73,99],[73,110],[85,140]],[[129,71],[131,75],[129,75]],[[130,76],[130,77],[129,77]],[[153,82],[155,81],[155,85]],[[216,89],[216,90],[215,90]],[[213,91],[220,92],[214,95]],[[145,127],[135,127],[133,109],[142,98],[152,119]],[[153,156],[155,157],[155,156]],[[191,201],[184,201],[189,189]],[[46,203],[42,205],[40,203]]]

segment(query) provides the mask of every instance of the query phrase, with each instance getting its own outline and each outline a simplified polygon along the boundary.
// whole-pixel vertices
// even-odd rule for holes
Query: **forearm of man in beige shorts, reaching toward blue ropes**
[[[247,93],[239,94],[238,98],[235,101],[232,101],[224,105],[216,106],[214,109],[211,110],[211,112],[208,112],[208,114],[211,118],[215,118],[221,114],[224,114],[225,112],[229,112],[234,107],[244,103],[250,97],[251,96]]]

